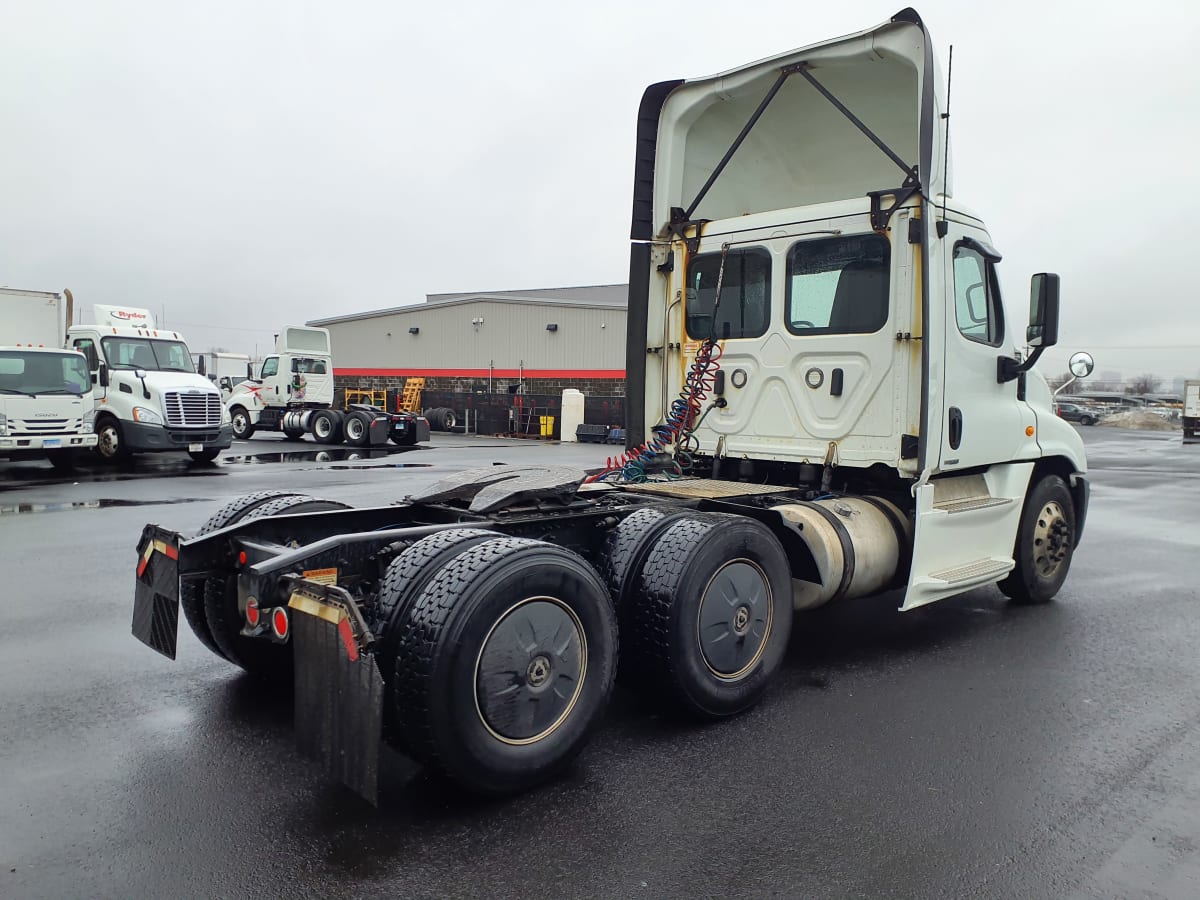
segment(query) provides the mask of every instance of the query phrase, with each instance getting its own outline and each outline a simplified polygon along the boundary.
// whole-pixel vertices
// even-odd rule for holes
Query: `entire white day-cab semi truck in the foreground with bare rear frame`
[[[364,796],[380,738],[498,793],[560,770],[614,680],[668,713],[749,708],[796,611],[996,582],[1050,600],[1088,498],[1031,368],[1058,280],[1033,276],[1024,335],[1006,319],[943,110],[912,10],[649,88],[626,452],[373,509],[252,494],[190,538],[146,526],[134,635],[173,658],[181,605],[220,655],[294,677],[300,749]]]

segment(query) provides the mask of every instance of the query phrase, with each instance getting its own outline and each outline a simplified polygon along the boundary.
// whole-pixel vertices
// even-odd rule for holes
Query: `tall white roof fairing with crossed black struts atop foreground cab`
[[[925,26],[916,11],[904,10],[866,31],[709,78],[654,85],[643,97],[640,116],[635,194],[641,197],[635,196],[632,236],[661,234],[672,209],[685,211],[690,221],[721,220],[862,198],[906,181],[916,181],[925,197],[934,198],[947,181],[940,84]],[[656,149],[647,158],[642,139],[649,137],[656,103],[661,104]],[[744,142],[706,191],[751,121]],[[653,221],[640,221],[637,208],[652,206],[650,184]]]

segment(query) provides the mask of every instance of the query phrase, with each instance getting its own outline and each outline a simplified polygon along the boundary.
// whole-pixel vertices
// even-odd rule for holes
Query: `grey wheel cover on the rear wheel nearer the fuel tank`
[[[696,638],[704,665],[733,680],[762,658],[773,617],[770,582],[756,563],[732,559],[713,575],[700,599]]]

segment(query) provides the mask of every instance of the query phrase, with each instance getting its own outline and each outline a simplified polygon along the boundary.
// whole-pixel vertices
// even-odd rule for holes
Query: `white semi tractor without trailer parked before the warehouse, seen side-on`
[[[389,413],[367,403],[334,408],[334,355],[329,329],[284,325],[258,378],[242,382],[226,401],[234,437],[282,431],[292,440],[312,434],[318,444],[412,446],[430,439],[424,416]]]

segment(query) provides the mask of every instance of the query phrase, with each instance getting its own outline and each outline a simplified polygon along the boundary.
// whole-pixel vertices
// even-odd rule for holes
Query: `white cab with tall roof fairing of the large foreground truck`
[[[1006,317],[1002,244],[954,194],[944,109],[905,10],[653,85],[638,118],[632,457],[674,444],[686,474],[887,497],[906,610],[1002,580],[1057,589],[1087,504],[1082,443],[1031,368],[1057,340],[1058,278],[1033,276],[1027,326]],[[1046,485],[1058,536],[1031,540],[1055,559],[1019,546]],[[832,599],[811,511],[784,515],[816,558],[797,608]]]

